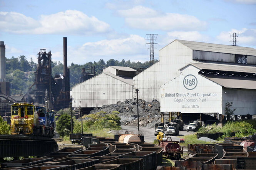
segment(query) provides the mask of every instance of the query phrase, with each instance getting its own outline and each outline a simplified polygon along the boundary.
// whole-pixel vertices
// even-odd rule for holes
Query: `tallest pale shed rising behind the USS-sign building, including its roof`
[[[256,66],[254,48],[174,40],[159,51],[159,62],[133,78],[139,99],[160,101],[160,86],[180,75],[179,69],[189,63],[218,62]]]

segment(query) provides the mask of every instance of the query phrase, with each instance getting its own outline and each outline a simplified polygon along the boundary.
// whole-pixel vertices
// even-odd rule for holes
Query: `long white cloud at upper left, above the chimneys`
[[[41,15],[38,20],[16,12],[0,12],[0,30],[18,34],[90,35],[111,31],[110,25],[77,10]]]

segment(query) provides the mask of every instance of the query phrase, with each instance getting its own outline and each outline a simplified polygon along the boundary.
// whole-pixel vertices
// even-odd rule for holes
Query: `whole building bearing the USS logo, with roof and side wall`
[[[256,114],[256,67],[190,63],[161,86],[161,111],[225,113],[233,102],[234,115]]]

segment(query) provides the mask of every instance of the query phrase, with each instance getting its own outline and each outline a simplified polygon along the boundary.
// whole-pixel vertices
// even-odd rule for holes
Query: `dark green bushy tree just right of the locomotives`
[[[61,137],[68,136],[71,131],[71,116],[62,114],[56,122],[56,130]]]

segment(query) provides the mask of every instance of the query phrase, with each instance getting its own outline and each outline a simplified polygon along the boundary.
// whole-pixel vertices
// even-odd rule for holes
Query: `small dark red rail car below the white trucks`
[[[159,146],[163,150],[163,154],[169,157],[175,157],[177,159],[181,158],[183,150],[178,141],[172,141],[171,137],[168,137],[166,140],[159,141]]]

